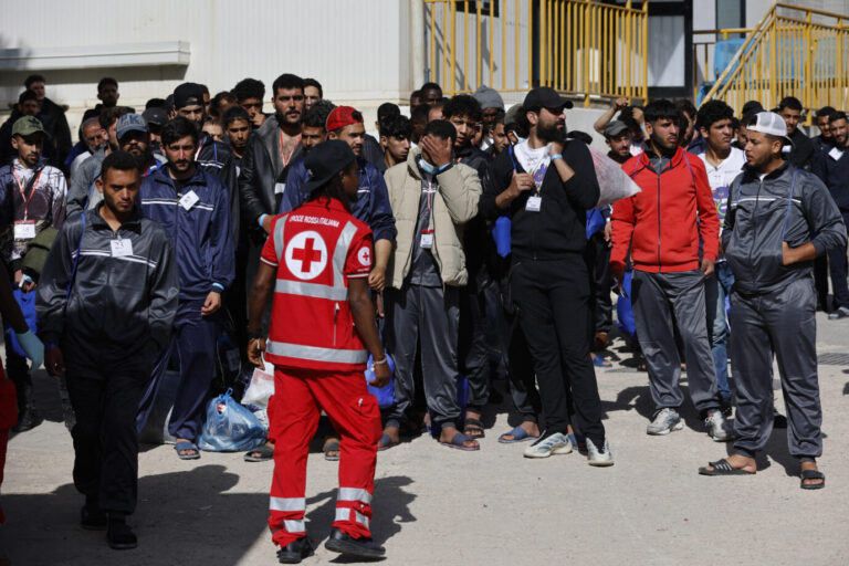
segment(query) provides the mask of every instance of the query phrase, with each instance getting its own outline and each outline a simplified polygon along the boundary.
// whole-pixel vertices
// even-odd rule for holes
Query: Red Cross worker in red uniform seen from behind
[[[339,491],[325,547],[361,557],[385,551],[371,538],[380,412],[364,378],[370,353],[373,385],[389,382],[368,292],[371,230],[350,214],[359,179],[345,142],[316,146],[305,160],[313,172],[301,190],[306,202],[272,221],[250,297],[248,356],[274,365],[269,439],[274,479],[269,526],[280,562],[296,564],[313,552],[306,536],[306,459],[324,410],[340,433]],[[271,290],[268,340],[260,334]]]

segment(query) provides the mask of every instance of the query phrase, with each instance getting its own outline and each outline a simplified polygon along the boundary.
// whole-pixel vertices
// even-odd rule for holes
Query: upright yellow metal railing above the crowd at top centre
[[[648,2],[423,0],[427,69],[446,94],[502,92],[648,98]]]

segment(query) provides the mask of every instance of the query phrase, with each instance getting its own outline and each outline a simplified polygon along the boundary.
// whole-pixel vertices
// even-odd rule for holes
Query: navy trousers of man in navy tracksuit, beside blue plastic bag
[[[174,400],[168,432],[175,438],[195,441],[203,424],[203,409],[209,387],[216,375],[217,340],[220,312],[201,316],[202,301],[182,301],[174,322],[171,343],[154,367],[153,379],[139,407],[138,430],[147,421],[159,384],[168,364],[176,356],[180,367],[180,385]]]

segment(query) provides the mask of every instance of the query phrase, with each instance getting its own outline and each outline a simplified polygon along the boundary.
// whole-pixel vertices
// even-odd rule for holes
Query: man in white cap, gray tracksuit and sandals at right
[[[746,167],[732,184],[722,233],[734,273],[732,367],[737,389],[734,450],[699,471],[755,473],[755,453],[773,430],[773,352],[787,407],[790,454],[801,463],[801,488],[825,486],[822,410],[817,379],[814,260],[846,245],[846,226],[828,189],[784,161],[784,120],[762,112],[744,120]],[[811,238],[810,234],[816,234]]]

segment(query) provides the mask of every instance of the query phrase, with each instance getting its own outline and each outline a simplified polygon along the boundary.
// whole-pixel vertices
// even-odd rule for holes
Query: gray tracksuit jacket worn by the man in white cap
[[[784,265],[782,242],[811,242],[819,256],[846,239],[831,195],[808,171],[785,164],[762,180],[746,167],[731,186],[722,247],[738,293],[769,293],[811,276],[811,261]]]

